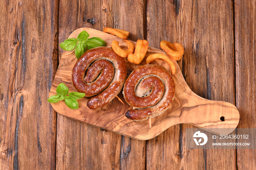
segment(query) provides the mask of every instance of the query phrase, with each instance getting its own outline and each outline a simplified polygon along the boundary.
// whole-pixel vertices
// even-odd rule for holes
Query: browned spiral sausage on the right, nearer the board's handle
[[[169,108],[175,95],[172,75],[158,65],[146,64],[136,68],[124,83],[125,101],[133,107],[125,116],[132,120],[146,120]]]

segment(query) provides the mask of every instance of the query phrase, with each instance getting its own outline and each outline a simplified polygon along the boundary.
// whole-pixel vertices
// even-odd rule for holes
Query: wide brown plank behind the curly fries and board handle
[[[234,38],[231,1],[147,1],[147,40],[181,43],[179,62],[197,95],[234,104]],[[176,125],[147,143],[148,169],[233,169],[235,150],[187,150],[185,129]],[[218,163],[216,163],[218,162]]]

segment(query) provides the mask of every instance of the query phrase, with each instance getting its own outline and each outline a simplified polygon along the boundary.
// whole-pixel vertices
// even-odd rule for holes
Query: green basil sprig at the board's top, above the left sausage
[[[106,46],[106,42],[99,37],[89,37],[89,33],[82,31],[79,33],[77,38],[69,38],[63,43],[60,43],[60,48],[63,50],[71,51],[75,48],[76,58],[79,59],[80,56],[86,52],[86,49],[90,50],[94,47]]]

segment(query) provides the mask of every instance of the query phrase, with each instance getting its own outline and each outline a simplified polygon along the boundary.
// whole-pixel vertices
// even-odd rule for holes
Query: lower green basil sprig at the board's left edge
[[[64,83],[60,83],[56,88],[57,95],[50,96],[47,101],[50,103],[57,103],[60,100],[64,100],[69,108],[78,109],[79,106],[77,99],[83,98],[85,94],[79,92],[68,92],[68,87]]]

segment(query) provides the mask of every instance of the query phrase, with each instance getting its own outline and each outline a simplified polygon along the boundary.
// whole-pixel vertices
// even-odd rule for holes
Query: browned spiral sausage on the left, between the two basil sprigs
[[[95,109],[112,101],[122,90],[127,74],[123,58],[112,48],[97,47],[86,51],[72,70],[72,84],[78,92],[92,97],[87,102]],[[85,76],[86,75],[86,76]]]

